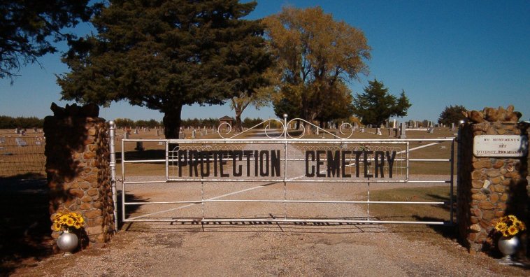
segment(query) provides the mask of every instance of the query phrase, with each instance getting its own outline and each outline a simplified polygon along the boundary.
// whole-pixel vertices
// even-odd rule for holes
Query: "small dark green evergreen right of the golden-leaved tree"
[[[412,106],[401,91],[399,98],[388,94],[388,88],[382,82],[374,79],[368,81],[362,94],[356,94],[353,100],[354,113],[361,118],[364,125],[382,125],[392,116],[403,117],[407,115],[408,108]]]

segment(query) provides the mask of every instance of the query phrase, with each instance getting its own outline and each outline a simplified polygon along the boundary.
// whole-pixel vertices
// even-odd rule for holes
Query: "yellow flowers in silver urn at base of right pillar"
[[[524,231],[527,227],[524,222],[518,220],[515,215],[507,215],[499,219],[495,225],[495,230],[501,233],[501,238],[497,243],[499,250],[504,255],[506,262],[511,262],[511,255],[515,253],[519,246],[519,239],[517,234]]]

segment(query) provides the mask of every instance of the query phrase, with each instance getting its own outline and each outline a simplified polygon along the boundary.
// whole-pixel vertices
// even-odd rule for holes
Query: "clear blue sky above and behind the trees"
[[[406,120],[436,121],[445,106],[470,110],[486,106],[515,106],[530,118],[530,1],[258,1],[250,18],[278,13],[282,6],[321,6],[335,20],[364,31],[372,48],[369,76],[353,80],[353,92],[362,92],[377,78],[389,92],[405,90],[413,106]],[[80,32],[87,27],[80,27]],[[60,55],[41,57],[25,66],[15,79],[0,80],[0,115],[50,115],[59,101],[55,73],[68,69]],[[182,118],[233,116],[229,105],[185,106]],[[126,102],[102,108],[107,120],[131,118],[162,120],[158,111],[131,107]],[[248,108],[243,118],[270,118],[272,108]]]

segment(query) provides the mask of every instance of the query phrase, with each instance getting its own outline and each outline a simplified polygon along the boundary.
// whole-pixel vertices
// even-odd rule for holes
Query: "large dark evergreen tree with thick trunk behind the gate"
[[[164,113],[178,138],[183,105],[222,104],[252,92],[270,62],[263,27],[243,20],[255,2],[111,0],[92,23],[99,34],[70,43],[58,76],[63,99],[131,105]]]

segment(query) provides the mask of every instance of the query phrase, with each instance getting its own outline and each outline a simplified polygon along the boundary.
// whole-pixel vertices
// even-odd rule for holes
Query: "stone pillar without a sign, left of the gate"
[[[83,215],[81,246],[103,247],[116,232],[106,122],[95,105],[54,103],[52,111],[44,120],[51,218],[62,211]]]

